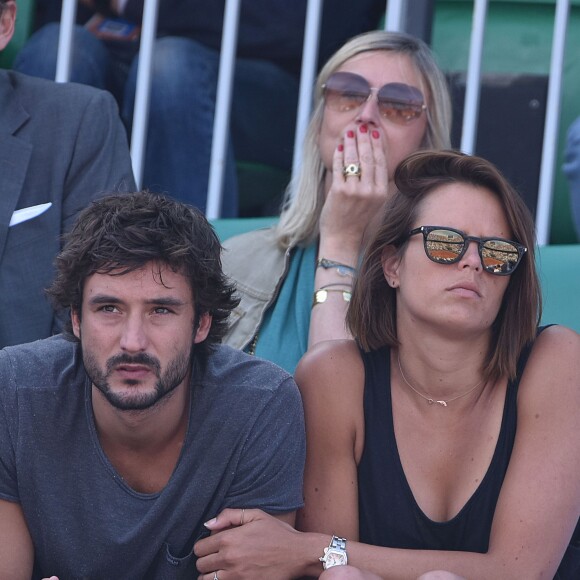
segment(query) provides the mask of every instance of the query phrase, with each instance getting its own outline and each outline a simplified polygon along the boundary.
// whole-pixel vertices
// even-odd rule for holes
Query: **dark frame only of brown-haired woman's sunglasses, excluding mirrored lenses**
[[[449,258],[449,259],[447,259],[447,258],[437,259],[436,257],[433,256],[433,254],[429,250],[427,244],[433,243],[433,242],[441,243],[441,244],[458,244],[459,243],[459,242],[448,242],[445,240],[430,240],[430,239],[428,239],[429,234],[431,232],[436,231],[436,230],[453,232],[454,234],[457,234],[463,238],[463,247],[462,247],[461,251],[455,257]],[[477,251],[479,253],[479,259],[481,260],[481,265],[482,265],[483,269],[486,272],[489,272],[490,274],[493,274],[495,276],[509,276],[510,274],[513,274],[515,272],[515,269],[518,267],[519,263],[521,262],[524,254],[528,251],[528,248],[526,248],[522,244],[518,244],[517,242],[513,242],[512,240],[505,240],[503,238],[495,238],[495,237],[478,238],[476,236],[468,236],[465,232],[462,232],[461,230],[456,230],[455,228],[449,228],[446,226],[421,226],[419,228],[415,228],[415,229],[411,230],[407,234],[407,239],[410,238],[411,236],[416,235],[416,234],[423,234],[423,249],[425,250],[425,254],[432,262],[435,262],[436,264],[456,264],[457,262],[459,262],[459,260],[461,260],[461,258],[463,258],[463,256],[465,255],[465,252],[467,252],[467,248],[469,247],[469,242],[477,242]],[[507,252],[506,250],[486,246],[486,244],[489,242],[501,242],[504,244],[510,244],[511,246],[514,247],[515,251],[514,252]],[[493,266],[493,265],[488,266],[485,264],[485,260],[484,260],[484,256],[483,256],[484,250],[486,250],[488,252],[493,252],[493,253],[497,252],[500,254],[502,254],[502,253],[503,254],[517,253],[518,259],[515,261],[505,260],[504,262],[502,262],[502,264],[504,266],[505,265],[507,265],[507,266],[513,265],[513,267],[509,271],[498,270],[497,266]]]

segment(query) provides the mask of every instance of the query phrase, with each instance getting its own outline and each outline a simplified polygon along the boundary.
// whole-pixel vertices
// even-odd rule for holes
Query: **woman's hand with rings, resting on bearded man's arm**
[[[206,527],[212,535],[194,546],[200,580],[213,580],[216,573],[219,580],[302,575],[297,549],[304,534],[288,523],[261,510],[244,510],[242,519],[242,510],[226,509]]]

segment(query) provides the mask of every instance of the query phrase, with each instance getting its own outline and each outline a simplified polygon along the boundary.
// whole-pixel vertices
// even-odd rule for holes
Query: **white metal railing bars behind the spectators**
[[[139,70],[133,129],[131,135],[131,157],[137,184],[141,185],[143,158],[147,137],[147,116],[151,83],[151,61],[155,39],[159,0],[146,0],[141,32]],[[294,159],[292,172],[298,171],[300,149],[310,116],[312,92],[316,76],[318,38],[323,0],[308,0],[306,15],[300,94],[296,119]],[[464,116],[460,148],[465,153],[475,151],[477,123],[479,118],[479,96],[481,91],[481,60],[487,19],[488,0],[475,0],[472,17],[472,31],[467,70]],[[548,243],[554,171],[556,160],[556,140],[561,101],[562,68],[564,44],[569,15],[570,0],[556,0],[556,15],[550,63],[548,101],[542,149],[542,165],[538,187],[536,228],[539,245]],[[409,0],[389,0],[386,3],[385,28],[404,30],[405,15],[409,14]],[[223,176],[229,134],[229,115],[237,44],[240,0],[226,0],[220,70],[216,97],[213,142],[210,162],[207,216],[210,219],[220,215]],[[61,36],[56,80],[65,82],[69,78],[72,53],[72,28],[76,14],[76,0],[63,0]]]

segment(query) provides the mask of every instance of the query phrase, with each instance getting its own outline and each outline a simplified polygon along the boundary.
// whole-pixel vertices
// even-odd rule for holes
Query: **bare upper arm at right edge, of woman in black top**
[[[553,577],[580,516],[579,425],[580,336],[551,327],[520,382],[516,439],[490,538],[490,553],[512,569],[527,565],[529,577]]]

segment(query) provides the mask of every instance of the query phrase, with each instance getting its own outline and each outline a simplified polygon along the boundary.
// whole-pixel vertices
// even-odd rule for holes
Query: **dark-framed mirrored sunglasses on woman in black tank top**
[[[427,257],[437,264],[459,262],[469,242],[477,242],[481,265],[486,272],[497,276],[508,276],[517,268],[525,246],[502,238],[477,238],[443,226],[421,226],[411,230],[407,237],[423,234],[423,246]]]

